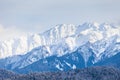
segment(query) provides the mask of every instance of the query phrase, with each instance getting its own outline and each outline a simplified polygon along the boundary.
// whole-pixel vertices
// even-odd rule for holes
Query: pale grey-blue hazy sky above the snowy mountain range
[[[120,23],[120,0],[0,0],[0,40],[84,22]]]

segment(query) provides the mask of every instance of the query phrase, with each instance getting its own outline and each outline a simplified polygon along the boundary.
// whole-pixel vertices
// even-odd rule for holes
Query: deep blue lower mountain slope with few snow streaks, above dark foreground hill
[[[29,72],[45,72],[45,71],[67,71],[71,69],[79,69],[90,66],[112,66],[120,68],[120,54],[111,57],[104,57],[101,60],[95,61],[95,54],[89,48],[88,60],[84,59],[83,53],[80,51],[82,47],[73,53],[68,53],[64,56],[50,56],[44,59],[40,59],[33,64],[30,64],[21,69],[14,69],[18,73],[29,73]],[[91,55],[90,55],[91,54]]]

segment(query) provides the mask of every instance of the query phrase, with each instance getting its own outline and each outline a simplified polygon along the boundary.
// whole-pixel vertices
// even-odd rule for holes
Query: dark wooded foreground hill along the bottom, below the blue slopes
[[[44,72],[25,75],[8,74],[8,71],[4,73],[8,77],[0,74],[0,80],[120,80],[120,70],[112,67],[90,67],[67,72]]]

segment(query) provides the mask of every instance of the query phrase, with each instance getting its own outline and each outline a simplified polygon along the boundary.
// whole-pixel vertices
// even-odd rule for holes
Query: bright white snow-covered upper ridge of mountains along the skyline
[[[70,50],[81,46],[87,41],[94,43],[117,35],[119,41],[120,28],[109,24],[84,23],[79,26],[73,24],[59,24],[41,34],[23,36],[0,42],[0,58],[13,55],[24,55],[35,47],[43,45],[66,44]]]

